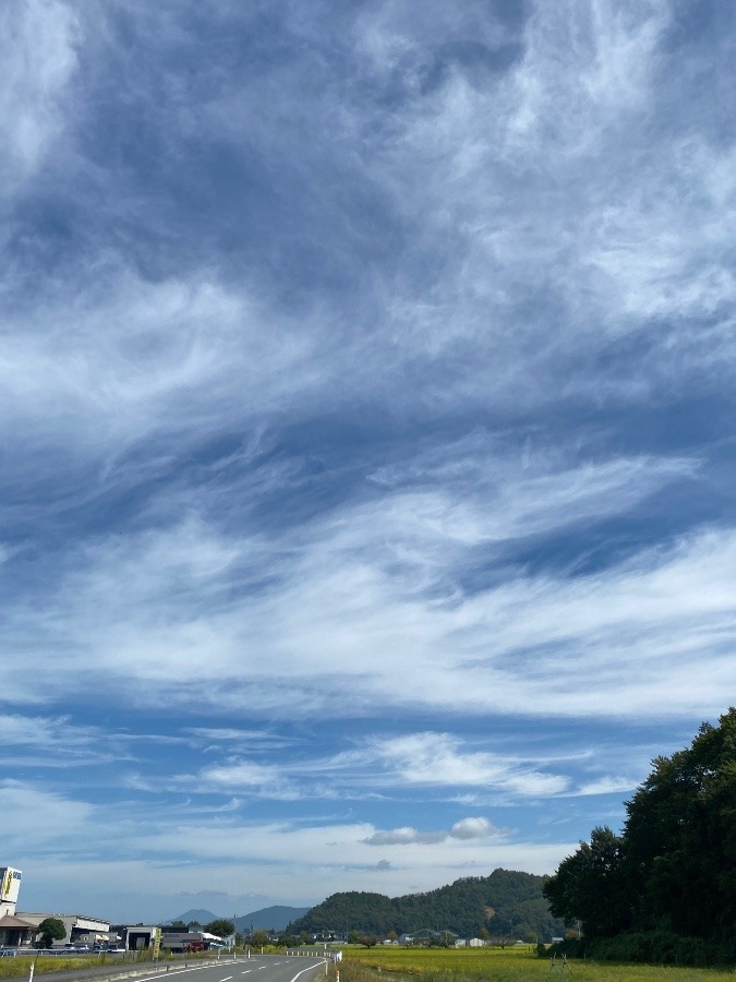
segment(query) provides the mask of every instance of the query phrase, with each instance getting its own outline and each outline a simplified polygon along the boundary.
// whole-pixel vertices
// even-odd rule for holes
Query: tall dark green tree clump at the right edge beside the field
[[[544,884],[601,958],[736,960],[736,709],[656,757],[620,835],[598,826]]]

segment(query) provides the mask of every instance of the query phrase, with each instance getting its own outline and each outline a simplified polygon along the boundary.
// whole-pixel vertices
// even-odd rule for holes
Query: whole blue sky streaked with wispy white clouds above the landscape
[[[550,873],[733,702],[734,19],[3,4],[20,909]]]

